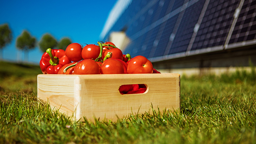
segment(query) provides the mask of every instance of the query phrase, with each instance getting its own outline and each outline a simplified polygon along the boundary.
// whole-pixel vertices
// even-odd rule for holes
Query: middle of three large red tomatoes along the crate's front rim
[[[120,61],[109,58],[102,63],[100,72],[101,74],[123,74],[125,70]]]

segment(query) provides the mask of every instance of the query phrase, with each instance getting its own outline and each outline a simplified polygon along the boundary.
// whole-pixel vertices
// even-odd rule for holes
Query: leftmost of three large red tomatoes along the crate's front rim
[[[100,66],[92,59],[85,59],[76,64],[74,74],[100,74]]]

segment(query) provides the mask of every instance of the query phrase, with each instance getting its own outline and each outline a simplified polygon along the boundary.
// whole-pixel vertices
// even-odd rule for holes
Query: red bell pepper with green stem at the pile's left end
[[[71,63],[62,49],[47,49],[40,60],[40,68],[43,74],[57,74],[63,65]]]

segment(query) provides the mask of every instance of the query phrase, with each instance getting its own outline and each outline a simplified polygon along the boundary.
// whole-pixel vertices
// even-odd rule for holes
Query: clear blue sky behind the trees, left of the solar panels
[[[17,37],[27,30],[37,42],[45,33],[57,41],[69,37],[80,44],[97,44],[109,11],[116,0],[0,0],[0,24],[8,23],[13,34],[3,49],[3,59],[24,60],[15,47]],[[39,64],[42,52],[29,51],[29,62]],[[17,59],[18,58],[18,59]]]

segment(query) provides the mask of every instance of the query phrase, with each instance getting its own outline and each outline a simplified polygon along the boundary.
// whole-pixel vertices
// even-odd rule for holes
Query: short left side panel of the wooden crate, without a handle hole
[[[72,116],[74,108],[74,79],[78,76],[39,74],[37,97],[49,102],[51,108]]]

